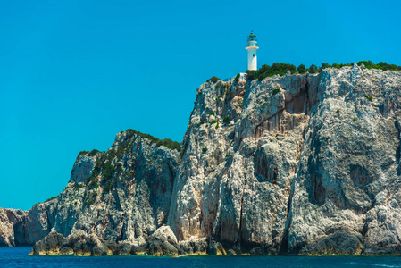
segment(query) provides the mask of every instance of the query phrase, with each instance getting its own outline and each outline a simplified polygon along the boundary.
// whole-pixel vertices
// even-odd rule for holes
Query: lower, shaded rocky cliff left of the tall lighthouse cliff
[[[7,229],[0,245],[33,245],[52,230],[64,236],[84,230],[100,239],[133,243],[167,222],[179,156],[134,130],[118,133],[109,151],[79,154],[57,198],[28,213],[19,211],[19,220],[0,218]],[[15,243],[8,239],[11,230]]]

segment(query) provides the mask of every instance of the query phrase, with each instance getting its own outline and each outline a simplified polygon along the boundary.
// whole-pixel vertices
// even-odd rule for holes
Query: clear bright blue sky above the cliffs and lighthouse
[[[181,141],[196,88],[258,65],[401,65],[400,1],[0,0],[0,207],[57,196],[129,128]]]

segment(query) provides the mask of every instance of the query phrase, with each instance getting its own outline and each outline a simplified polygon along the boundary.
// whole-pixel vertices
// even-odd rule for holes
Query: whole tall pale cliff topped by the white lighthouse
[[[401,73],[205,83],[168,224],[255,254],[399,252]]]

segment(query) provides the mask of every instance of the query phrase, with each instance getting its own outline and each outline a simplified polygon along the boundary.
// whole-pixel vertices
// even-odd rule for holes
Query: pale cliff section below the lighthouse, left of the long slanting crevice
[[[199,88],[171,204],[179,239],[212,236],[241,251],[278,252],[319,80],[288,75]]]

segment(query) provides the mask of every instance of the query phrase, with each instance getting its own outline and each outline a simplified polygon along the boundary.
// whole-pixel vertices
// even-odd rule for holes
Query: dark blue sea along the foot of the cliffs
[[[0,268],[8,267],[401,267],[397,256],[29,256],[31,247],[0,247]]]

